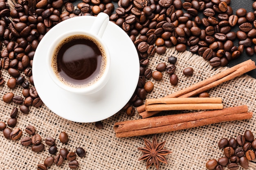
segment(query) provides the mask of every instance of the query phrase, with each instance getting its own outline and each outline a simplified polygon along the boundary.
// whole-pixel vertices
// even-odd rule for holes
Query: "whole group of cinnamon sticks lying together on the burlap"
[[[214,123],[220,123],[222,121],[235,121],[235,120],[243,120],[243,119],[250,119],[252,118],[253,113],[248,112],[248,108],[246,105],[243,106],[234,106],[224,109],[218,110],[207,110],[207,111],[200,111],[195,113],[181,113],[175,115],[165,115],[165,116],[157,116],[151,117],[162,110],[171,110],[168,108],[164,108],[165,104],[184,104],[184,103],[197,103],[195,99],[191,98],[199,93],[205,92],[210,88],[216,87],[219,84],[234,79],[248,71],[255,69],[255,62],[252,60],[247,60],[242,62],[236,66],[228,68],[227,70],[222,71],[214,75],[213,77],[209,77],[208,79],[203,80],[202,82],[196,83],[192,86],[184,88],[176,93],[170,94],[165,96],[162,99],[147,99],[146,104],[137,107],[137,112],[143,119],[137,120],[129,120],[129,121],[122,121],[117,122],[114,124],[114,130],[116,132],[116,137],[132,137],[132,136],[141,136],[141,135],[150,135],[156,133],[163,133],[163,132],[172,132],[175,130],[182,130],[186,128],[193,128],[199,127]],[[187,99],[184,99],[189,97]],[[169,98],[169,99],[168,99]],[[171,99],[175,98],[175,99]],[[178,99],[181,98],[181,99]],[[197,98],[199,104],[205,103],[216,103],[221,104],[219,100],[220,98],[212,98],[207,99],[205,102],[205,98],[199,99]],[[214,101],[214,102],[213,102]],[[155,106],[160,104],[161,107],[155,109]],[[152,108],[148,107],[150,105],[155,105]],[[164,106],[164,107],[163,107]],[[184,109],[185,105],[182,105]],[[191,109],[190,105],[189,109]],[[208,105],[209,106],[209,105]],[[207,109],[209,107],[207,106]],[[176,108],[173,110],[179,110]],[[180,107],[180,106],[178,106]],[[195,107],[192,107],[192,109]],[[183,110],[182,109],[182,110]],[[202,108],[200,108],[202,109]],[[198,110],[200,110],[198,109]],[[213,108],[212,108],[213,109]],[[155,111],[157,110],[157,111]]]

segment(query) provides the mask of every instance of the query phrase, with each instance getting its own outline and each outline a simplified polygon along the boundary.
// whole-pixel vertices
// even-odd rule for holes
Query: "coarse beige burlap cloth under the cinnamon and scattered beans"
[[[202,57],[192,54],[189,51],[178,53],[175,48],[167,49],[164,55],[155,55],[150,57],[149,68],[155,70],[160,62],[167,63],[168,56],[177,57],[177,70],[175,73],[179,77],[177,86],[169,83],[169,75],[163,72],[163,79],[155,81],[149,79],[155,84],[154,90],[147,95],[147,98],[164,97],[167,94],[179,91],[183,88],[200,82],[212,75],[227,69],[227,67],[213,68]],[[186,67],[194,68],[192,76],[187,77],[182,74]],[[6,70],[2,69],[4,80],[10,78]],[[147,81],[149,81],[147,80]],[[166,132],[157,134],[158,142],[165,141],[165,149],[172,153],[166,155],[168,164],[161,163],[160,170],[206,170],[205,163],[209,159],[218,159],[222,156],[223,150],[218,148],[218,141],[222,137],[235,137],[243,134],[245,130],[251,130],[256,136],[256,79],[248,75],[242,75],[228,82],[220,84],[216,88],[208,91],[211,97],[222,97],[225,107],[239,106],[246,104],[249,111],[254,113],[252,119],[244,121],[222,122],[220,124],[211,124],[198,128],[190,128],[175,132]],[[0,87],[0,121],[7,122],[13,107],[17,104],[6,104],[2,97],[7,92],[13,92],[15,95],[21,95],[22,87],[10,90],[5,83]],[[47,90],[47,89],[45,89]],[[113,103],[115,105],[115,103]],[[175,112],[179,113],[179,112]],[[72,114],[72,113],[70,113]],[[93,114],[93,113],[92,113]],[[170,112],[162,113],[171,114]],[[75,151],[76,147],[82,147],[86,150],[83,158],[77,157],[79,161],[79,170],[145,170],[146,161],[138,161],[142,152],[137,147],[144,147],[143,137],[152,141],[154,135],[143,137],[117,138],[113,130],[113,125],[118,121],[130,119],[141,119],[136,114],[128,117],[124,111],[116,113],[112,117],[103,120],[103,129],[98,129],[94,123],[77,123],[63,119],[55,115],[44,104],[40,108],[30,107],[29,114],[25,115],[19,111],[17,128],[23,131],[22,137],[29,136],[25,132],[28,125],[36,128],[36,133],[40,134],[45,144],[46,137],[56,139],[58,151],[61,148],[67,148],[69,151]],[[16,128],[15,127],[15,128]],[[61,131],[65,131],[69,136],[67,144],[62,144],[58,136]],[[42,152],[35,153],[31,151],[31,146],[22,146],[20,139],[11,141],[5,139],[3,133],[0,133],[0,169],[23,169],[33,170],[37,168],[38,163],[43,163],[46,157],[54,156],[48,152],[49,146],[45,144]],[[68,161],[65,160],[62,166],[53,164],[49,170],[68,170]],[[155,170],[154,166],[149,168]],[[243,168],[239,168],[242,170]],[[249,163],[249,170],[255,170],[256,163]]]

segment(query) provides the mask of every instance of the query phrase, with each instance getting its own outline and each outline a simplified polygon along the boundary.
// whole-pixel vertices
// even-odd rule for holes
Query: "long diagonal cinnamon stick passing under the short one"
[[[237,64],[236,66],[228,68],[227,70],[222,71],[221,73],[209,77],[203,80],[202,82],[193,84],[192,86],[177,91],[176,93],[166,95],[165,97],[191,97],[204,91],[207,91],[213,87],[216,87],[223,82],[227,82],[231,79],[234,79],[235,77],[243,75],[244,73],[247,73],[248,71],[251,71],[255,68],[255,62],[252,60],[247,60],[245,62]],[[145,105],[139,106],[136,109],[142,118],[150,117],[159,113],[159,111],[147,112]]]

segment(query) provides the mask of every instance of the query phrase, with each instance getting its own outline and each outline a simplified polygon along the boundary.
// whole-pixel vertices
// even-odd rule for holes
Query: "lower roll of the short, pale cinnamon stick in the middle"
[[[186,104],[150,104],[146,105],[146,111],[163,110],[217,110],[222,109],[221,103],[186,103]]]

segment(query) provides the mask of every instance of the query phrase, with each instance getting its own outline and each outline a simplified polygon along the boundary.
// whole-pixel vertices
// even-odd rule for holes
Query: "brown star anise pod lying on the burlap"
[[[146,147],[145,148],[138,148],[139,150],[144,152],[142,157],[139,158],[139,161],[140,160],[147,160],[146,161],[146,164],[147,164],[146,169],[148,169],[148,167],[150,167],[153,163],[154,163],[155,167],[157,168],[157,170],[159,169],[160,162],[163,162],[163,163],[167,164],[168,162],[167,162],[166,158],[164,157],[164,155],[167,155],[167,154],[171,153],[171,151],[163,149],[164,144],[165,144],[166,141],[163,141],[161,143],[157,143],[157,137],[156,136],[153,138],[152,143],[150,143],[145,138],[143,138],[143,139],[144,139]]]

